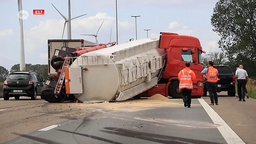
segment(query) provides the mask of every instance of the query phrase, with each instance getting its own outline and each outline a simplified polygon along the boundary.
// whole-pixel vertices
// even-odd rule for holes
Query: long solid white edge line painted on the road
[[[214,124],[220,124],[221,127],[218,127],[221,135],[227,141],[228,144],[245,144],[244,141],[234,132],[228,124],[212,109],[209,104],[206,103],[204,99],[197,99],[201,105],[203,106],[204,110],[210,116]],[[218,106],[217,106],[218,107]]]

